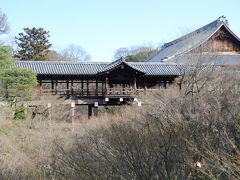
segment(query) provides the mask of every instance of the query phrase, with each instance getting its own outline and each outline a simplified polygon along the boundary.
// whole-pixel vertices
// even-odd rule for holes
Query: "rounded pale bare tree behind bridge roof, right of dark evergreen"
[[[90,54],[86,50],[75,44],[69,45],[60,54],[62,60],[66,61],[89,61],[91,59]]]

